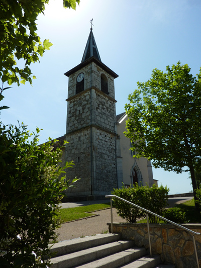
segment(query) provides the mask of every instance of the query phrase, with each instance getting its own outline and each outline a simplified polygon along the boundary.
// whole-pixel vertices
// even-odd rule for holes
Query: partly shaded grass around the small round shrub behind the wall
[[[177,204],[176,208],[180,208],[185,212],[186,220],[188,223],[201,223],[201,214],[195,210],[194,199],[188,200],[184,203]],[[138,221],[138,223],[147,223],[146,219]],[[167,223],[160,221],[160,223]]]

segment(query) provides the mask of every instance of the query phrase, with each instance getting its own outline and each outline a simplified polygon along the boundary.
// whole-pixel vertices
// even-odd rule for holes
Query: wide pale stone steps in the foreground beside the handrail
[[[99,234],[54,244],[51,268],[174,268],[160,264],[159,256],[149,257],[145,248],[122,240],[120,234]]]

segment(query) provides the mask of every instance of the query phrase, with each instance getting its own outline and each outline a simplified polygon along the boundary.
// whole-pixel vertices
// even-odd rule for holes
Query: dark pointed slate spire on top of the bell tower
[[[91,28],[81,62],[85,61],[86,59],[92,56],[101,61]]]

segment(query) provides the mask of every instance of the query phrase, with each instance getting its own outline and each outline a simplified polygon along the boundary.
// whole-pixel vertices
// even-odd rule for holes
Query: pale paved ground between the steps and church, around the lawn
[[[168,199],[168,207],[173,207],[176,203],[183,203],[187,200],[192,199],[192,197],[177,197]],[[100,201],[85,201],[85,202],[76,202],[76,203],[62,203],[62,208],[72,208],[77,206],[86,206],[91,204],[98,203],[107,203],[109,200],[100,200]],[[111,222],[111,210],[100,210],[94,212],[97,216],[92,218],[85,218],[78,221],[67,222],[62,224],[61,228],[56,230],[56,233],[59,234],[58,241],[74,239],[83,236],[89,236],[94,234],[104,233],[108,231],[107,223]],[[113,222],[126,222],[121,217],[117,215],[117,210],[113,209]]]

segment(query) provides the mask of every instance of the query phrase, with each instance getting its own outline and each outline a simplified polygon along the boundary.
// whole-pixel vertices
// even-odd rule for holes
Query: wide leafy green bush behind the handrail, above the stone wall
[[[169,189],[167,187],[157,187],[153,185],[151,188],[148,186],[138,186],[136,184],[133,188],[114,189],[113,195],[119,196],[131,203],[134,203],[142,208],[151,212],[162,215],[165,206],[167,205]],[[114,205],[117,208],[118,215],[128,222],[135,223],[138,219],[146,217],[146,212],[125,203],[117,198],[114,198]],[[149,214],[150,223],[158,223],[158,217]]]

